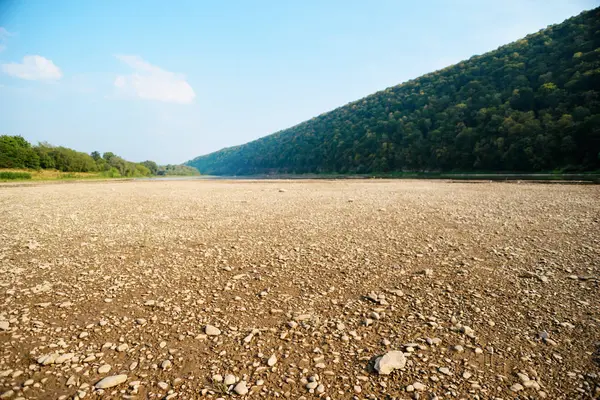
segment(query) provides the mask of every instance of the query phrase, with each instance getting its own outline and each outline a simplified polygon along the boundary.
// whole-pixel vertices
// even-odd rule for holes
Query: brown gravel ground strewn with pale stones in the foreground
[[[5,186],[0,398],[597,399],[599,279],[600,186]]]

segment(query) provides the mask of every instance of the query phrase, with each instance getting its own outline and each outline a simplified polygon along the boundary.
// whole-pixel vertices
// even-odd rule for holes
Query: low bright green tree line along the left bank
[[[199,174],[187,166],[160,166],[154,161],[136,163],[112,152],[87,154],[45,142],[32,145],[21,136],[9,135],[0,136],[0,168],[97,172],[111,178]]]

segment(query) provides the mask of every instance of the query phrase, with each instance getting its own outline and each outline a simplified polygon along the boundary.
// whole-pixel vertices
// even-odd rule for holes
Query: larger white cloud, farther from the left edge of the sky
[[[180,104],[189,104],[196,97],[194,89],[183,75],[165,71],[139,56],[115,57],[134,71],[130,75],[119,75],[115,78],[115,88],[121,95]]]

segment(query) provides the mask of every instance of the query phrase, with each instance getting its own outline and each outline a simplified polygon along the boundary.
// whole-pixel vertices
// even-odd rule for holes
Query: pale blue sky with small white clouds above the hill
[[[0,0],[0,134],[179,164],[600,0]]]

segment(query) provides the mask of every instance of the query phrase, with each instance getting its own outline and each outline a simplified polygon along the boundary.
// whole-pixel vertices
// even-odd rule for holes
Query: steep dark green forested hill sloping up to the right
[[[256,141],[202,174],[600,169],[600,8]]]

